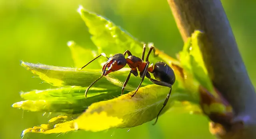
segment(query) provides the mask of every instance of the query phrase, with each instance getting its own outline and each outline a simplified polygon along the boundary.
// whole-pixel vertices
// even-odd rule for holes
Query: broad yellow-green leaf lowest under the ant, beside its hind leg
[[[168,87],[147,85],[139,89],[136,95],[132,98],[131,95],[134,91],[115,99],[93,103],[86,112],[76,119],[75,124],[77,124],[79,129],[84,129],[86,131],[105,130],[104,128],[99,128],[102,122],[111,127],[113,121],[108,122],[108,118],[116,118],[115,127],[117,128],[142,125],[156,117],[162,108],[162,103],[169,90],[170,88]],[[175,100],[175,95],[170,99],[162,113],[170,107],[173,100]],[[94,115],[97,115],[97,119],[94,119]],[[94,121],[99,120],[100,122],[98,125],[95,125],[97,123],[94,123]]]

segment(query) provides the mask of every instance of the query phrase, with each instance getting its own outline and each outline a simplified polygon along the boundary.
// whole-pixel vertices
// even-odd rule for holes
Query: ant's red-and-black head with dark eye
[[[114,56],[108,58],[107,63],[102,67],[102,71],[105,73],[104,75],[108,75],[108,73],[111,73],[113,71],[118,71],[124,66],[126,66],[127,61],[123,54],[115,54]]]

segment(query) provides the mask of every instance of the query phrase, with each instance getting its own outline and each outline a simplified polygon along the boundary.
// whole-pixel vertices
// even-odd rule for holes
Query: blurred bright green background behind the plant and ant
[[[256,83],[256,2],[222,0],[233,28],[246,68]],[[182,39],[166,0],[0,0],[0,139],[19,139],[23,129],[46,123],[48,115],[13,109],[20,101],[19,91],[51,87],[20,66],[20,60],[56,66],[73,66],[66,43],[74,40],[93,47],[90,34],[76,12],[78,5],[101,14],[143,42],[175,56]],[[253,56],[254,55],[254,56]],[[208,131],[208,119],[200,115],[167,112],[159,119],[128,129],[111,129],[92,133],[76,131],[66,134],[30,133],[25,139],[214,139]]]

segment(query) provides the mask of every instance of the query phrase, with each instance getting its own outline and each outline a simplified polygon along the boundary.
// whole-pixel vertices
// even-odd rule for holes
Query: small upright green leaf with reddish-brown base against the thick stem
[[[195,82],[198,82],[198,93],[200,94],[200,106],[203,112],[216,123],[230,124],[234,113],[232,107],[222,97],[221,93],[214,88],[212,81],[208,75],[208,71],[204,65],[202,52],[200,50],[200,36],[202,32],[196,30],[191,39],[180,52],[183,67],[187,69]],[[189,69],[189,70],[188,70]]]

